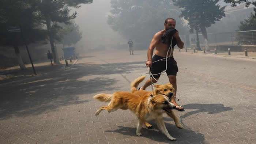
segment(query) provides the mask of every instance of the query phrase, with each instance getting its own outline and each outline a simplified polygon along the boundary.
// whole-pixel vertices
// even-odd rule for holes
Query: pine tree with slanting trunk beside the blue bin
[[[54,63],[59,64],[59,56],[54,47],[54,35],[60,29],[58,23],[69,24],[77,15],[76,12],[69,14],[70,7],[79,8],[80,4],[90,4],[93,0],[35,0],[35,2],[39,9],[39,15],[43,19],[42,22],[47,26]]]

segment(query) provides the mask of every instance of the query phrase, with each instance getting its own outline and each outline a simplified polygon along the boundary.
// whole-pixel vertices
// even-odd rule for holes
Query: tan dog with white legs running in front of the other
[[[155,120],[158,128],[164,133],[168,139],[176,140],[170,136],[163,122],[162,114],[165,111],[175,108],[173,103],[170,103],[170,99],[165,95],[144,95],[138,96],[130,92],[115,92],[114,94],[97,94],[93,97],[99,101],[109,102],[108,106],[102,106],[96,111],[95,115],[99,115],[102,110],[116,111],[118,109],[131,110],[138,117],[139,122],[136,129],[136,135],[141,136],[143,124],[146,120]]]

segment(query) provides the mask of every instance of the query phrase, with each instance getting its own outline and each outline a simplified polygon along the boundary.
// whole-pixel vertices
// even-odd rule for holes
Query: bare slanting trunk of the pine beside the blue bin
[[[53,55],[53,61],[55,64],[60,64],[60,61],[59,61],[59,56],[58,56],[58,52],[54,46],[54,38],[53,38],[53,35],[52,35],[52,26],[51,26],[51,21],[50,21],[50,18],[46,18],[46,26],[47,26],[47,31],[48,31],[48,36],[49,36],[49,39],[50,39],[50,45],[51,45],[51,49],[52,49],[52,55]]]

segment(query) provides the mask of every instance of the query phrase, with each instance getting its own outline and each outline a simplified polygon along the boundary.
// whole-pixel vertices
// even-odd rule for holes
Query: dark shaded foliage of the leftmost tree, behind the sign
[[[46,39],[46,31],[36,14],[31,0],[1,0],[0,1],[0,45],[24,45],[21,33],[8,33],[10,26],[20,26],[26,43]]]

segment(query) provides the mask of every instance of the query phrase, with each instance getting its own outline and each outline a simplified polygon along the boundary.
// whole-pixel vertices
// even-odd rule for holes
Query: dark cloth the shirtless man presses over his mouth
[[[165,32],[165,34],[162,35],[161,37],[161,41],[162,43],[165,43],[167,44],[168,46],[171,45],[171,41],[172,41],[172,36],[177,32],[176,29],[172,29],[170,28],[169,30],[167,30]],[[177,41],[176,41],[176,38],[173,37],[173,41],[172,41],[172,47],[177,45]]]

